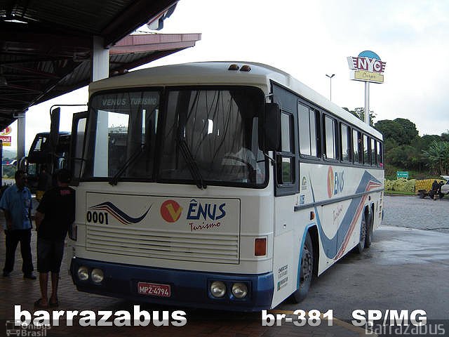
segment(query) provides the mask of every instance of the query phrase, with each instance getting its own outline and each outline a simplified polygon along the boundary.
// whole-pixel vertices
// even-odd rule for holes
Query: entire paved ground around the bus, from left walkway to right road
[[[449,234],[447,223],[438,223],[424,229],[416,227],[427,223],[431,214],[441,212],[444,216],[449,200],[432,201],[415,197],[386,197],[384,225],[375,232],[373,246],[361,255],[348,254],[337,265],[326,271],[312,286],[308,298],[300,305],[282,303],[272,313],[286,313],[293,310],[317,309],[324,312],[334,310],[337,319],[333,327],[325,324],[313,328],[297,327],[284,323],[283,326],[262,326],[260,314],[213,312],[211,310],[187,310],[187,325],[146,326],[146,327],[67,327],[62,321],[60,327],[53,326],[46,336],[361,336],[363,330],[355,328],[339,319],[350,319],[355,309],[423,309],[429,319],[449,317]],[[443,218],[443,217],[441,217]],[[3,223],[0,215],[0,224]],[[435,223],[435,222],[433,222]],[[391,225],[398,227],[391,227]],[[399,227],[400,226],[400,227]],[[32,239],[34,244],[35,236]],[[35,246],[33,247],[35,251]],[[0,233],[0,256],[4,256],[4,234]],[[0,277],[0,336],[1,325],[13,318],[13,305],[21,305],[21,310],[34,313],[34,300],[39,298],[37,281],[23,279],[20,273],[20,254],[11,277]],[[35,259],[35,256],[34,256]],[[4,260],[0,258],[0,267]],[[67,266],[63,265],[62,270]],[[58,310],[128,310],[133,305],[114,298],[105,298],[80,293],[74,288],[69,276],[62,272],[60,280],[60,308]],[[141,310],[179,310],[182,308],[162,308],[140,304]],[[36,314],[35,314],[36,315]],[[449,326],[446,326],[449,336]],[[36,332],[36,331],[34,331]],[[22,335],[23,336],[23,335]],[[28,335],[32,336],[32,335]],[[34,335],[39,336],[39,335]],[[373,335],[371,335],[373,336]]]

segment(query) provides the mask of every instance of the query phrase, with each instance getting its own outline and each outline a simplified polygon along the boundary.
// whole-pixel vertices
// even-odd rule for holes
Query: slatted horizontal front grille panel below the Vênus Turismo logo
[[[88,251],[142,258],[163,258],[208,263],[239,263],[239,235],[191,234],[145,229],[88,226]]]

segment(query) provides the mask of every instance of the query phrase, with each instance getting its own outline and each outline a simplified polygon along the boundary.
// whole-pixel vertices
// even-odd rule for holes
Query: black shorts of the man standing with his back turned
[[[58,273],[64,254],[64,240],[37,238],[37,271]]]

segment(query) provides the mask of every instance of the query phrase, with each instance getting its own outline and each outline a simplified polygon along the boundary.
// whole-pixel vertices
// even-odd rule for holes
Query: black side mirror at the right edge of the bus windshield
[[[276,151],[281,135],[281,110],[277,103],[265,103],[263,122],[264,151]]]

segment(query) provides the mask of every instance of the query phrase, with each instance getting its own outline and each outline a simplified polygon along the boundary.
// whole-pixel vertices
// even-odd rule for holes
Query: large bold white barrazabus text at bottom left
[[[140,305],[134,305],[133,312],[127,310],[37,310],[33,313],[22,310],[20,305],[14,305],[14,321],[16,326],[33,324],[34,326],[60,326],[65,320],[67,326],[73,326],[74,321],[79,326],[185,326],[187,317],[185,311],[140,310]]]

